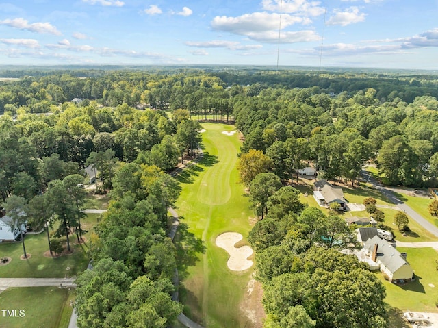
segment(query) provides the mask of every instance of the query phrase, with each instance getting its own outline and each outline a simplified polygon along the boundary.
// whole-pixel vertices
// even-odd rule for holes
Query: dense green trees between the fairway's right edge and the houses
[[[306,207],[274,173],[259,173],[249,192],[256,214],[265,215],[248,236],[263,283],[264,327],[387,327],[385,287],[339,251],[355,244],[342,218]]]

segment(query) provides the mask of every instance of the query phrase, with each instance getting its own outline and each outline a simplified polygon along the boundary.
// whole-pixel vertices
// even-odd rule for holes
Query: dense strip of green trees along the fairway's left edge
[[[112,202],[94,227],[94,268],[77,279],[79,327],[168,327],[182,311],[172,301],[176,251],[166,237],[175,179],[157,166],[126,163],[112,181]]]

